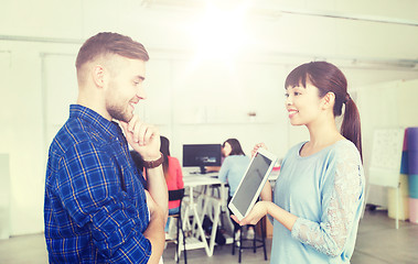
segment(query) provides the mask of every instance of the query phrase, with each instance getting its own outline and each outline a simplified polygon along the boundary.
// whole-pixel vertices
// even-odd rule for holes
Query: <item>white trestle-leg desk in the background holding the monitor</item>
[[[213,255],[213,250],[215,246],[215,238],[216,238],[216,230],[217,224],[219,222],[219,215],[221,215],[221,207],[225,205],[225,185],[215,177],[208,177],[205,175],[185,175],[183,177],[184,182],[184,188],[189,190],[189,202],[185,202],[185,211],[184,211],[184,218],[183,218],[183,227],[189,227],[192,230],[192,237],[186,238],[186,250],[194,250],[194,249],[205,249],[207,256]],[[215,198],[210,196],[208,193],[208,186],[213,185],[219,185],[221,186],[221,198]],[[194,198],[194,188],[195,187],[204,187],[203,194],[199,197],[200,200],[203,202],[202,212],[199,213],[199,204],[195,201]],[[212,205],[211,208],[208,208],[208,205]],[[208,209],[214,208],[214,216],[212,219],[213,226],[212,226],[212,233],[210,235],[210,242],[207,243],[205,232],[202,227],[202,221],[204,219],[205,215],[208,215]],[[193,223],[190,224],[189,222],[189,216],[193,216]],[[193,227],[197,227],[195,230]],[[181,248],[181,246],[180,246]],[[180,252],[179,252],[180,253]],[[179,254],[180,255],[180,254]]]

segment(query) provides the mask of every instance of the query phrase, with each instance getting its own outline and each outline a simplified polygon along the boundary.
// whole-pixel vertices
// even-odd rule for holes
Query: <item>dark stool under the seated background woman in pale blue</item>
[[[268,220],[267,220],[268,221]],[[261,218],[256,226],[254,226],[254,238],[251,240],[249,239],[243,239],[244,229],[243,227],[234,228],[234,242],[233,242],[233,255],[235,255],[235,248],[238,248],[238,263],[240,263],[242,260],[242,253],[244,250],[253,249],[253,252],[257,252],[257,248],[262,248],[265,253],[265,261],[267,261],[267,252],[266,252],[266,233],[265,233],[265,227],[264,227],[264,218]],[[260,227],[261,231],[261,238],[257,238],[257,230],[256,227]],[[239,241],[236,240],[236,232],[240,230],[239,234]],[[250,243],[253,242],[253,243]]]

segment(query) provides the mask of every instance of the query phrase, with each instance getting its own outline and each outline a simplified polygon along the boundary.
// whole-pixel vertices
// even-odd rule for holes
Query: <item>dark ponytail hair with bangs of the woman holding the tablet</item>
[[[302,64],[288,75],[285,81],[285,89],[299,85],[306,88],[307,82],[312,84],[319,89],[321,98],[328,92],[335,95],[334,117],[342,114],[343,105],[345,105],[340,132],[345,139],[355,144],[363,158],[360,113],[355,102],[347,92],[347,80],[344,74],[336,66],[326,62]]]

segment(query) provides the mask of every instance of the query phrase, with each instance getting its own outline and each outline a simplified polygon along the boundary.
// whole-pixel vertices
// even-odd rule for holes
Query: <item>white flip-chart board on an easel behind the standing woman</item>
[[[378,129],[373,136],[369,183],[397,188],[404,147],[404,129]]]

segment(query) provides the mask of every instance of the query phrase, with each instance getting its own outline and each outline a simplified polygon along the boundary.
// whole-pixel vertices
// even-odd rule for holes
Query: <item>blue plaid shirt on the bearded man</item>
[[[142,234],[149,212],[141,178],[119,125],[71,106],[46,168],[50,262],[147,263],[151,243]]]

